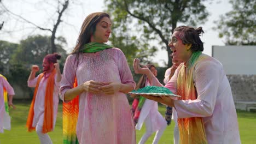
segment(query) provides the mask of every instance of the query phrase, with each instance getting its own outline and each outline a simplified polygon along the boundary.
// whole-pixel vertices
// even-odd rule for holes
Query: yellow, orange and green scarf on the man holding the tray
[[[182,65],[177,79],[177,94],[182,100],[195,100],[197,92],[193,83],[193,72],[197,62],[203,61],[202,52],[193,52],[188,68]],[[186,73],[187,72],[187,73]],[[182,144],[207,143],[202,117],[179,118],[179,138]]]

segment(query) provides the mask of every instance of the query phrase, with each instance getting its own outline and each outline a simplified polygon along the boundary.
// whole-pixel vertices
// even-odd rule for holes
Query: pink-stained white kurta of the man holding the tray
[[[175,94],[180,68],[165,85]],[[195,66],[193,81],[197,99],[174,100],[178,118],[202,117],[210,144],[241,143],[235,104],[223,65],[212,57],[210,61],[199,62]],[[155,78],[152,85],[161,86]]]

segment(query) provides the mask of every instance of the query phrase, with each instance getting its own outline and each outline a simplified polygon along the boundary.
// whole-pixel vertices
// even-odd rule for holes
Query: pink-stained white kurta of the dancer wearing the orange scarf
[[[34,118],[33,118],[33,124],[32,124],[33,127],[36,127],[37,125],[43,125],[44,123],[45,89],[47,86],[47,80],[49,75],[50,74],[47,74],[46,77],[43,76],[38,86],[36,100],[34,101]],[[28,87],[36,87],[38,77],[39,75],[33,80],[27,81]],[[57,74],[55,75],[54,79],[55,80],[54,80],[54,93],[53,93],[53,105],[54,105],[53,128],[55,127],[56,118],[57,118],[57,111],[58,111],[58,104],[59,104],[59,89],[60,89],[60,82],[57,82]]]

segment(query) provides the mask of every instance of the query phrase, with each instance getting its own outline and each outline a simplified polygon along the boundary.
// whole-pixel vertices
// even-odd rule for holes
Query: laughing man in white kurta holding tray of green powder
[[[202,28],[182,26],[174,29],[169,46],[181,64],[188,67],[193,51],[203,51],[203,43],[199,38]],[[190,34],[193,34],[191,36]],[[196,38],[191,40],[191,38]],[[196,42],[196,43],[195,43]],[[178,118],[202,117],[208,143],[237,143],[240,144],[240,134],[234,100],[229,81],[223,65],[217,59],[201,54],[207,61],[199,61],[193,71],[193,82],[197,93],[195,100],[173,100],[170,97],[153,97],[143,95],[148,99],[175,107]],[[136,74],[146,74],[151,85],[162,86],[147,68],[141,68],[139,60],[133,64]],[[177,93],[177,78],[179,67],[166,88]],[[183,125],[181,125],[182,127]],[[198,135],[198,134],[195,134]]]

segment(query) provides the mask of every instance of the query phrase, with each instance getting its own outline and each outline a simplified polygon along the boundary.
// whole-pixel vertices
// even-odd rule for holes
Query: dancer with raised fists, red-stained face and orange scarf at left
[[[39,82],[36,99],[34,100],[34,116],[32,127],[36,128],[37,135],[39,137],[41,144],[52,143],[49,135],[47,133],[42,133],[43,123],[44,123],[44,112],[45,112],[45,93],[46,86],[48,82],[48,78],[53,73],[53,70],[56,70],[56,74],[54,76],[54,90],[53,90],[53,130],[56,123],[57,118],[57,109],[59,104],[59,89],[61,82],[61,72],[59,68],[59,64],[57,63],[57,59],[60,59],[61,56],[57,53],[46,55],[43,59],[43,71],[44,76]],[[36,72],[39,71],[39,67],[37,65],[32,66],[30,77],[28,77],[27,85],[28,87],[36,87],[39,75],[35,77]]]

